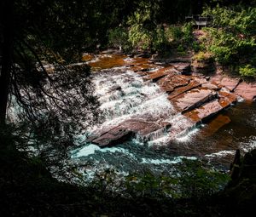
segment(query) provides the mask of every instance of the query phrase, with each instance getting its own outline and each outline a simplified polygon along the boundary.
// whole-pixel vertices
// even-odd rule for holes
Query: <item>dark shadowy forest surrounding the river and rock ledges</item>
[[[198,17],[207,19],[207,25],[196,25]],[[70,163],[70,151],[79,146],[78,134],[105,118],[95,94],[96,67],[86,55],[107,49],[129,58],[150,58],[154,66],[189,58],[192,69],[202,69],[204,79],[218,68],[255,87],[256,1],[1,1],[1,216],[246,216],[252,211],[252,149],[244,157],[237,150],[228,172],[189,158],[177,163],[175,178],[145,168],[119,182],[118,174],[106,167],[90,185],[84,184],[83,174]],[[187,78],[182,79],[185,83]],[[236,94],[239,83],[229,94]],[[222,99],[212,93],[207,100]],[[119,188],[113,191],[109,186],[116,182]]]

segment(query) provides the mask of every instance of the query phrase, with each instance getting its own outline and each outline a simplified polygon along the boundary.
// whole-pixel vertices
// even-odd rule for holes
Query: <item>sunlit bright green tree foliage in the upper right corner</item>
[[[253,63],[256,51],[256,8],[205,9],[204,15],[213,18],[211,28],[206,28],[206,49],[222,65],[245,65]],[[243,73],[244,76],[250,73]]]

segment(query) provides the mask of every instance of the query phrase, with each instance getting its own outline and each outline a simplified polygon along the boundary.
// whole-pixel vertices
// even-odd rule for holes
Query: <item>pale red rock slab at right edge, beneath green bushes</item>
[[[239,83],[234,93],[241,95],[245,100],[254,100],[256,99],[256,83]]]

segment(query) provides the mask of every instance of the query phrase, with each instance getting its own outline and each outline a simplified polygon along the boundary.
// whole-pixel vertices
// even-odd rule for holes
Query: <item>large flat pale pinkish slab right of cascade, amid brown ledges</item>
[[[192,89],[172,99],[172,102],[182,113],[190,111],[209,100],[216,98],[217,93],[211,89]]]

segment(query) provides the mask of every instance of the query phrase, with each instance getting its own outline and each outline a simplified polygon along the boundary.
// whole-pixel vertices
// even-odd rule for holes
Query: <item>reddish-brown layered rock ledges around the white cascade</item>
[[[244,83],[240,79],[224,77],[219,73],[212,77],[195,74],[188,62],[163,64],[143,57],[101,54],[91,57],[88,64],[94,71],[98,71],[96,73],[105,73],[109,77],[129,71],[130,78],[126,77],[128,83],[133,82],[131,73],[135,73],[135,77],[142,78],[139,85],[157,85],[172,105],[172,111],[169,112],[133,114],[118,124],[98,128],[91,133],[88,140],[101,147],[117,145],[134,136],[146,140],[148,135],[159,131],[169,134],[169,139],[172,140],[196,124],[207,122],[225,108],[234,105],[237,100],[253,100],[256,97],[256,84]],[[109,69],[112,69],[111,72]],[[115,83],[113,80],[109,84],[108,94],[123,93],[124,87]],[[109,101],[111,100],[108,103]],[[173,119],[177,122],[185,120],[185,124],[178,125]]]

